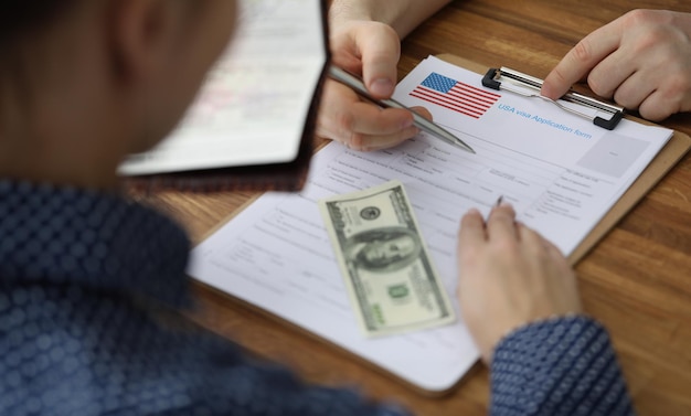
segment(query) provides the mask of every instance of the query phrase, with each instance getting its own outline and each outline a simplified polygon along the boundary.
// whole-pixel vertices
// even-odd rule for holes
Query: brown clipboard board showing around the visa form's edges
[[[456,56],[453,54],[440,54],[438,58],[444,60],[454,65],[461,66],[466,70],[478,74],[486,74],[488,67],[476,62]],[[625,118],[641,122],[649,126],[656,124],[642,118],[626,115]],[[607,233],[632,210],[636,204],[646,196],[648,192],[669,172],[681,158],[691,149],[691,137],[674,130],[672,137],[658,156],[648,164],[631,186],[621,195],[617,203],[607,212],[607,214],[597,223],[595,228],[581,242],[578,247],[568,256],[571,265],[576,265],[583,257],[588,254],[595,245],[607,235]]]

